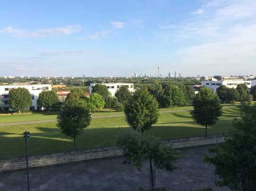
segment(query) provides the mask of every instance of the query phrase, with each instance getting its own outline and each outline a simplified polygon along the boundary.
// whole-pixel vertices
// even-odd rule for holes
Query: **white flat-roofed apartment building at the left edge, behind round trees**
[[[8,109],[8,94],[11,89],[26,88],[32,96],[32,106],[30,109],[37,110],[37,99],[39,93],[43,90],[51,91],[51,84],[34,84],[34,85],[0,85],[0,107]]]

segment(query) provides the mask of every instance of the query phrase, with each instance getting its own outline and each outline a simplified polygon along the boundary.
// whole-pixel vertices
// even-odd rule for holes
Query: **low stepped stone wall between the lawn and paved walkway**
[[[165,145],[172,145],[174,149],[189,148],[200,145],[213,145],[223,143],[224,137],[212,136],[209,138],[188,138],[164,141]],[[114,147],[56,153],[50,155],[29,157],[29,168],[38,168],[50,165],[59,165],[83,160],[95,160],[103,158],[121,157],[123,151]],[[25,158],[0,160],[0,172],[26,168]]]

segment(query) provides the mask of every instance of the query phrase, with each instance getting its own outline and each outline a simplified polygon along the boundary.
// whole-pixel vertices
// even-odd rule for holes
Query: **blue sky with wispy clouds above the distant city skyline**
[[[0,76],[256,75],[256,0],[8,0]]]

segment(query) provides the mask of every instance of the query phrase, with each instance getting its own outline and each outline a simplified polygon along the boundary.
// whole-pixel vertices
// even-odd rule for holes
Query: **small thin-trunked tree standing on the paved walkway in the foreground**
[[[142,168],[144,161],[149,161],[151,180],[153,180],[153,165],[157,169],[168,171],[178,168],[173,162],[179,158],[179,154],[171,146],[163,145],[162,140],[153,135],[125,129],[116,137],[115,145],[123,149],[126,159],[124,163],[129,162],[138,170]],[[151,181],[150,187],[154,189],[154,181]]]

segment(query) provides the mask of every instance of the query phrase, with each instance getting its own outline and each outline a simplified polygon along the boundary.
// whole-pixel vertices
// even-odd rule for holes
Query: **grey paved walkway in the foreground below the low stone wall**
[[[182,157],[177,164],[182,170],[157,170],[157,187],[171,188],[198,181],[204,185],[213,185],[214,168],[203,162],[203,157],[207,153],[206,147],[182,150],[180,153]],[[148,188],[148,163],[138,171],[130,165],[123,164],[123,160],[96,160],[31,170],[31,191],[139,191],[139,187]],[[0,174],[0,191],[26,191],[26,188],[25,172]]]

